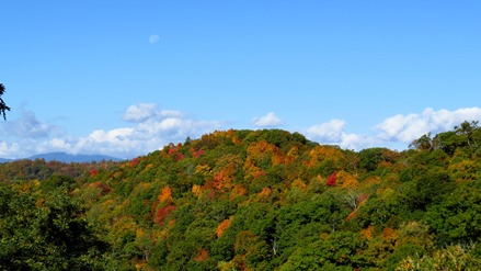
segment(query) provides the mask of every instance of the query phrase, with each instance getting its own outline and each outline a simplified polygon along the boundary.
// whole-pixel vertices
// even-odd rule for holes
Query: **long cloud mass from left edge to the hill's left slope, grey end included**
[[[151,103],[131,105],[123,116],[130,122],[124,127],[96,129],[87,136],[73,137],[51,133],[54,125],[42,123],[33,114],[26,114],[21,121],[1,123],[0,131],[3,134],[12,125],[21,128],[10,132],[7,142],[0,140],[0,157],[24,158],[42,153],[65,151],[131,158],[160,149],[171,142],[184,142],[187,136],[199,137],[222,126],[221,122],[194,120],[182,112],[161,110]],[[23,126],[20,125],[22,123]],[[3,139],[7,139],[4,135]]]

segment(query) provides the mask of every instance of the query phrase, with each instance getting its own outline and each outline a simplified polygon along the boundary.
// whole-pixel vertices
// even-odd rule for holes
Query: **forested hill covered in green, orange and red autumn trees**
[[[481,270],[480,157],[465,122],[401,153],[226,131],[42,178],[24,165],[1,179],[0,269]]]

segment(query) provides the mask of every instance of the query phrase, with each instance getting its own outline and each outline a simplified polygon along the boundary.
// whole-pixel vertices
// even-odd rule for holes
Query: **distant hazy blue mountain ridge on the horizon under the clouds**
[[[60,162],[92,162],[102,160],[122,161],[121,158],[103,155],[70,155],[67,153],[47,153],[23,158],[27,160],[45,159],[46,161],[60,161]],[[0,162],[9,162],[20,159],[4,159],[0,158]]]

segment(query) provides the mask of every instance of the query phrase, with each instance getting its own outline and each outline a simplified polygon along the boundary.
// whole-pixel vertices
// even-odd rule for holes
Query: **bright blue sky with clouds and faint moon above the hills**
[[[0,157],[228,128],[406,148],[481,120],[480,1],[2,1]]]

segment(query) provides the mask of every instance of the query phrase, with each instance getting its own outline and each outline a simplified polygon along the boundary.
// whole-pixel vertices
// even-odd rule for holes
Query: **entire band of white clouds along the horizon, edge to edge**
[[[160,109],[153,103],[138,103],[128,106],[123,114],[124,127],[108,131],[96,129],[87,136],[71,136],[56,125],[37,120],[35,114],[24,111],[22,115],[1,123],[1,158],[24,158],[51,151],[68,154],[99,154],[118,158],[134,158],[160,149],[169,143],[184,142],[188,136],[198,138],[215,129],[226,129],[222,121],[195,120],[183,112]],[[320,144],[339,145],[342,148],[360,150],[369,147],[401,146],[424,134],[453,129],[463,121],[481,120],[481,108],[466,108],[455,111],[425,109],[421,113],[389,116],[371,127],[368,134],[347,132],[347,122],[333,118],[314,124],[299,132]],[[253,128],[275,128],[285,125],[274,113],[254,117]],[[396,147],[394,147],[396,148]]]

